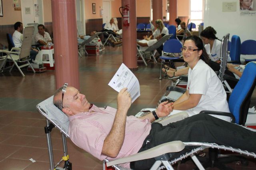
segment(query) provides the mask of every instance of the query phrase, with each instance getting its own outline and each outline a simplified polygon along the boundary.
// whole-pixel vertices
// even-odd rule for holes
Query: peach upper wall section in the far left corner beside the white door
[[[17,21],[22,22],[21,11],[14,11],[12,0],[3,0],[3,17],[0,17],[0,25],[11,25]],[[20,0],[19,0],[20,2]]]

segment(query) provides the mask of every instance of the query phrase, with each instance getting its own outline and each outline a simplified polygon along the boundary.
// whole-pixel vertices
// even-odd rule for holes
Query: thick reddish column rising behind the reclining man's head
[[[66,82],[79,89],[75,0],[52,0],[56,88]]]

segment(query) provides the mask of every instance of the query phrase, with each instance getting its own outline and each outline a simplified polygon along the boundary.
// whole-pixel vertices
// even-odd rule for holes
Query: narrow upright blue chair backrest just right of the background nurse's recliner
[[[231,38],[230,58],[231,61],[240,61],[241,41],[238,35]]]

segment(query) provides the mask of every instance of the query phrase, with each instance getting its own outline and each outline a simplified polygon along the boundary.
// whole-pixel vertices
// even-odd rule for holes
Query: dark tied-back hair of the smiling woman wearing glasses
[[[200,39],[199,37],[195,36],[195,35],[192,35],[192,36],[189,36],[189,37],[186,37],[185,40],[184,40],[184,43],[186,40],[192,40],[194,41],[196,47],[200,50],[202,50],[202,55],[200,56],[200,59],[202,59],[206,64],[210,64],[210,59],[209,59],[209,56],[208,54],[206,53],[206,50],[204,48],[204,44],[203,44],[203,41],[202,39]],[[184,45],[183,43],[183,45]]]

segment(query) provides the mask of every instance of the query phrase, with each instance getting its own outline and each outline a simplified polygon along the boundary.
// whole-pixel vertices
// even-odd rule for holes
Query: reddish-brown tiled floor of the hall
[[[106,47],[104,55],[79,58],[80,92],[89,102],[97,106],[116,107],[117,92],[108,82],[122,63],[122,47]],[[138,63],[135,72],[140,82],[141,96],[132,104],[128,115],[140,109],[156,107],[158,100],[172,80],[158,80],[160,64],[149,63],[146,67]],[[1,170],[48,170],[49,159],[44,134],[45,119],[36,111],[36,105],[52,96],[55,90],[54,71],[32,73],[24,71],[23,78],[18,70],[0,74],[0,169]],[[255,97],[251,105],[255,106]],[[73,170],[102,170],[102,162],[76,147],[69,139],[68,153]],[[52,131],[54,161],[63,156],[61,135]],[[32,158],[36,162],[29,159]],[[230,164],[237,170],[256,169],[255,160],[247,167]],[[176,165],[175,169],[192,169],[188,161]]]

